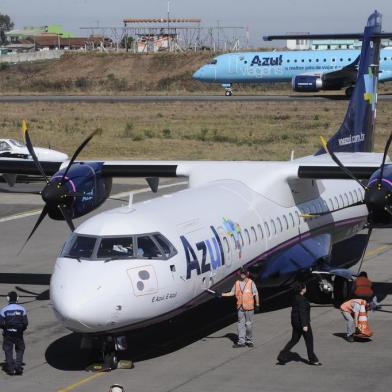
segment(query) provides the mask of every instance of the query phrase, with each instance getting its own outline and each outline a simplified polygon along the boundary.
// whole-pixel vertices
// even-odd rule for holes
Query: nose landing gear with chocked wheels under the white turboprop
[[[120,360],[119,354],[127,349],[125,336],[84,336],[81,349],[90,351],[91,364],[87,371],[111,371],[117,368],[132,369],[131,360]]]

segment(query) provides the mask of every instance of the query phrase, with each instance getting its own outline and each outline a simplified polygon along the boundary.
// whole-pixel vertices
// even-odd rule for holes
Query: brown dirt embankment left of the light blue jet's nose
[[[148,94],[220,91],[192,74],[213,56],[66,54],[60,60],[0,65],[0,94]],[[270,86],[271,87],[271,86]],[[246,87],[245,89],[254,89]],[[260,87],[258,87],[260,89]],[[265,89],[265,87],[261,87]]]

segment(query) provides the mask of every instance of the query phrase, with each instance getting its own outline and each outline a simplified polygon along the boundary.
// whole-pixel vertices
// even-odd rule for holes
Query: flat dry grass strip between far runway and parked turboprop
[[[314,153],[333,134],[347,101],[0,104],[1,137],[21,139],[28,120],[37,146],[72,154],[91,131],[84,159],[286,160]],[[377,112],[376,150],[391,132],[392,103]]]

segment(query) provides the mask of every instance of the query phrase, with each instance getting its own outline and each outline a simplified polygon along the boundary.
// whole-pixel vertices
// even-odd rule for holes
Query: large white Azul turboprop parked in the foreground
[[[39,167],[52,178],[27,241],[47,214],[74,229],[72,218],[108,197],[113,176],[148,178],[153,190],[158,177],[189,179],[186,190],[104,212],[74,230],[50,283],[63,325],[85,341],[102,337],[102,352],[114,367],[126,331],[207,301],[211,291],[230,287],[242,266],[262,287],[313,277],[316,295],[331,298],[333,292],[342,300],[343,268],[361,259],[372,228],[392,224],[392,137],[384,155],[371,152],[380,40],[387,36],[381,15],[373,13],[344,122],[314,156],[288,162],[75,162],[92,134],[57,173]],[[26,140],[32,149],[27,131]],[[356,242],[365,227],[368,236]],[[341,244],[350,251],[336,257]]]

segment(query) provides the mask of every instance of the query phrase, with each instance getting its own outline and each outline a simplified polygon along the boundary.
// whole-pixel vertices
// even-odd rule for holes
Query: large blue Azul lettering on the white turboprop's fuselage
[[[216,270],[225,264],[225,256],[223,253],[222,242],[218,236],[214,226],[210,226],[212,237],[195,244],[197,252],[193,249],[192,245],[185,236],[181,236],[181,242],[184,246],[186,257],[186,278],[190,279],[192,271],[195,270],[197,275],[204,274],[205,272]],[[201,260],[197,253],[201,253]]]

